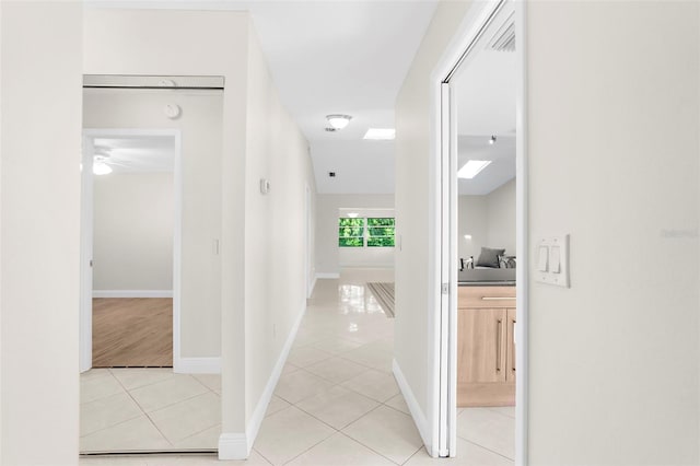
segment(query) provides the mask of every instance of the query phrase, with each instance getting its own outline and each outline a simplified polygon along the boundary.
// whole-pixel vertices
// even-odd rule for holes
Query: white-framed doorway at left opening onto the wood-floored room
[[[179,137],[158,129],[83,135],[83,370],[173,366]]]

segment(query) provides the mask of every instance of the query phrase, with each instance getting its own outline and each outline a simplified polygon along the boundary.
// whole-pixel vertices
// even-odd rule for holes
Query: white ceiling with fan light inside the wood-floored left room
[[[114,173],[173,172],[175,166],[173,136],[96,136],[93,145]]]

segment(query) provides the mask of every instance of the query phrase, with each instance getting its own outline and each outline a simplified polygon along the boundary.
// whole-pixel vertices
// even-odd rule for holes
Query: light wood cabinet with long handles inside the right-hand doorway
[[[515,405],[515,287],[459,287],[457,406]]]

